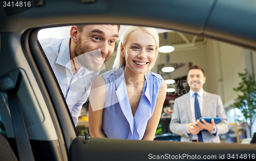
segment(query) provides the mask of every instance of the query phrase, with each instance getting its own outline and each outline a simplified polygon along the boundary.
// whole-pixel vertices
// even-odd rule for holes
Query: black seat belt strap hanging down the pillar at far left
[[[19,161],[35,160],[30,146],[28,132],[20,110],[20,103],[18,101],[17,91],[20,82],[22,81],[22,74],[18,73],[18,78],[15,87],[8,90],[8,103],[11,112],[12,125],[15,134],[16,147],[18,151]]]

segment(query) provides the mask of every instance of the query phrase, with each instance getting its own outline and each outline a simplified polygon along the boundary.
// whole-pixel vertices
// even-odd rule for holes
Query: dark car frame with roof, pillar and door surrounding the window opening
[[[221,156],[228,159],[228,154],[234,154],[234,159],[239,159],[241,154],[243,158],[245,154],[255,156],[256,145],[84,140],[76,132],[65,99],[37,41],[37,32],[73,24],[139,25],[181,31],[256,50],[256,1],[41,2],[11,16],[6,15],[6,8],[0,8],[0,114],[16,154],[16,136],[3,80],[8,77],[15,85],[20,74],[17,95],[36,160],[148,160],[162,156],[188,160],[187,155],[212,155],[216,157],[207,160],[215,160]]]

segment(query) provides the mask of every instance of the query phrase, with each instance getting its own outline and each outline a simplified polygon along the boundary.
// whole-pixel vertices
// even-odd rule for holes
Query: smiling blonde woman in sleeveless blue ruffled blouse
[[[92,84],[89,130],[93,137],[154,140],[166,84],[150,72],[158,56],[154,28],[128,27],[119,42],[114,70]]]

